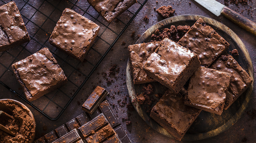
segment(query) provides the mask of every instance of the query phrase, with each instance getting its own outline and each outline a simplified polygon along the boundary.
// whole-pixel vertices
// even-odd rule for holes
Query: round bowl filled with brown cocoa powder
[[[1,99],[0,110],[13,117],[11,119],[1,116],[0,124],[15,134],[11,136],[0,130],[1,143],[32,143],[34,141],[35,119],[27,106],[16,100]]]

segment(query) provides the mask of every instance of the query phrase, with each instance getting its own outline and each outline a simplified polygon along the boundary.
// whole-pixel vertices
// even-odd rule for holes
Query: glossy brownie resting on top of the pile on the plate
[[[147,59],[143,70],[178,93],[199,66],[200,61],[196,54],[166,38]]]

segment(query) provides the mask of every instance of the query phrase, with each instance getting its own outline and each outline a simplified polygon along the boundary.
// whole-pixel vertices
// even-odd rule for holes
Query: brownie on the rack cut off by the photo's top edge
[[[125,10],[130,8],[137,0],[87,0],[88,3],[110,23]]]

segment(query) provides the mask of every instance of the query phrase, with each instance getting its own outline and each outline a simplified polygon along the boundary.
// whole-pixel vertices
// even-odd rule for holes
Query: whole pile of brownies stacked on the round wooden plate
[[[134,84],[157,81],[169,88],[150,117],[177,140],[201,110],[221,115],[252,83],[237,61],[224,54],[228,47],[202,18],[178,43],[166,38],[129,46]]]

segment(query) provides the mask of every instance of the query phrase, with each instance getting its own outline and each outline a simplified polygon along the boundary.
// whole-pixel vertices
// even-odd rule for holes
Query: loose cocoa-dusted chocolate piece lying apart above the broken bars
[[[103,99],[109,94],[109,92],[102,88],[97,86],[93,93],[89,96],[89,98],[85,101],[85,103],[82,105],[82,109],[90,114],[93,114],[93,112],[97,109],[99,104],[103,101]]]

